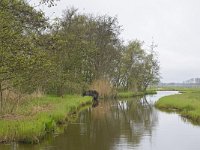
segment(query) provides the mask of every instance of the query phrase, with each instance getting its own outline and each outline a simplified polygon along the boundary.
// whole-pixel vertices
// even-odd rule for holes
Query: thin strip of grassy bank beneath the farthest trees
[[[156,91],[147,90],[145,92],[131,92],[131,91],[119,92],[117,94],[117,98],[130,98],[130,97],[135,97],[135,96],[144,96],[148,94],[156,94]]]

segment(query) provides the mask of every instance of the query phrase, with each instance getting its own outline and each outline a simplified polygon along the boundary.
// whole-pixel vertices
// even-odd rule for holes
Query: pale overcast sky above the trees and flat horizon
[[[117,16],[125,41],[150,45],[153,37],[162,82],[200,77],[200,0],[60,0],[56,7],[41,9],[54,18],[72,6],[84,13]]]

